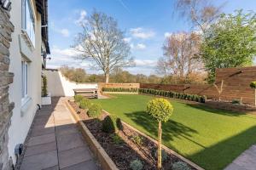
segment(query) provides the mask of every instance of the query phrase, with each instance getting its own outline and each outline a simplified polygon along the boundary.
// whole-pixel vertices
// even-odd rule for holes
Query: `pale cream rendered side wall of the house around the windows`
[[[14,82],[9,86],[9,100],[15,102],[13,116],[11,117],[11,126],[9,127],[9,156],[15,163],[15,145],[23,144],[26,134],[32,124],[33,117],[41,104],[41,15],[36,12],[36,44],[35,49],[31,50],[26,56],[31,61],[28,66],[28,97],[29,104],[25,105],[26,110],[21,114],[21,53],[20,53],[20,32],[21,32],[21,0],[11,0],[12,9],[10,11],[10,20],[15,26],[10,44],[10,67],[9,71],[15,74]],[[33,8],[35,1],[32,1]],[[23,44],[24,45],[24,44]]]

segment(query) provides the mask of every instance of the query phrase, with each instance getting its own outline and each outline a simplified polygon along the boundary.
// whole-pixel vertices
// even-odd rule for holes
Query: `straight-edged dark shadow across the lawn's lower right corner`
[[[236,126],[236,125],[234,125]],[[188,158],[206,169],[218,170],[228,166],[251,145],[256,144],[256,126],[220,141]],[[252,157],[254,159],[254,157]],[[256,166],[256,165],[255,165]]]

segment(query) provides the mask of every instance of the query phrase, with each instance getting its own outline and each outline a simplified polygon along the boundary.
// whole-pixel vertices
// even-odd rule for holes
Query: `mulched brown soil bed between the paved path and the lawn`
[[[102,120],[108,116],[108,113],[102,111],[98,119],[93,119],[87,115],[86,110],[80,109],[77,103],[69,101],[69,104],[72,105],[74,111],[79,113],[79,117],[84,120],[84,124],[90,130],[90,133],[102,145],[102,148],[119,169],[131,169],[131,161],[135,160],[142,162],[143,169],[156,169],[155,150],[157,145],[152,140],[145,138],[141,133],[137,133],[136,130],[124,123],[122,123],[123,130],[115,131],[116,133],[105,133],[102,131]],[[172,166],[177,164],[182,164],[188,169],[195,169],[178,156],[166,152],[163,169],[173,169]]]

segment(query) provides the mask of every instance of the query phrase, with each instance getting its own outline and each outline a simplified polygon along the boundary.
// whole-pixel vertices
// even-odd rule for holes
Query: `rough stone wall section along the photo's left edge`
[[[9,72],[9,46],[14,26],[9,21],[9,12],[0,7],[0,170],[9,170],[8,129],[14,103],[9,102],[9,84],[14,74]]]

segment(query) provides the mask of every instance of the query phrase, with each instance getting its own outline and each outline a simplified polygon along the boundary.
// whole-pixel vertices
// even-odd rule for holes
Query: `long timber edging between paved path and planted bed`
[[[86,140],[87,144],[89,144],[91,151],[100,162],[102,168],[104,170],[118,170],[112,159],[108,156],[107,152],[102,148],[101,144],[98,143],[93,134],[90,133],[90,130],[85,126],[84,122],[80,119],[76,111],[74,111],[73,107],[68,103],[67,100],[65,100],[65,104],[67,105],[68,110],[72,113],[72,116],[79,126],[84,139]]]

